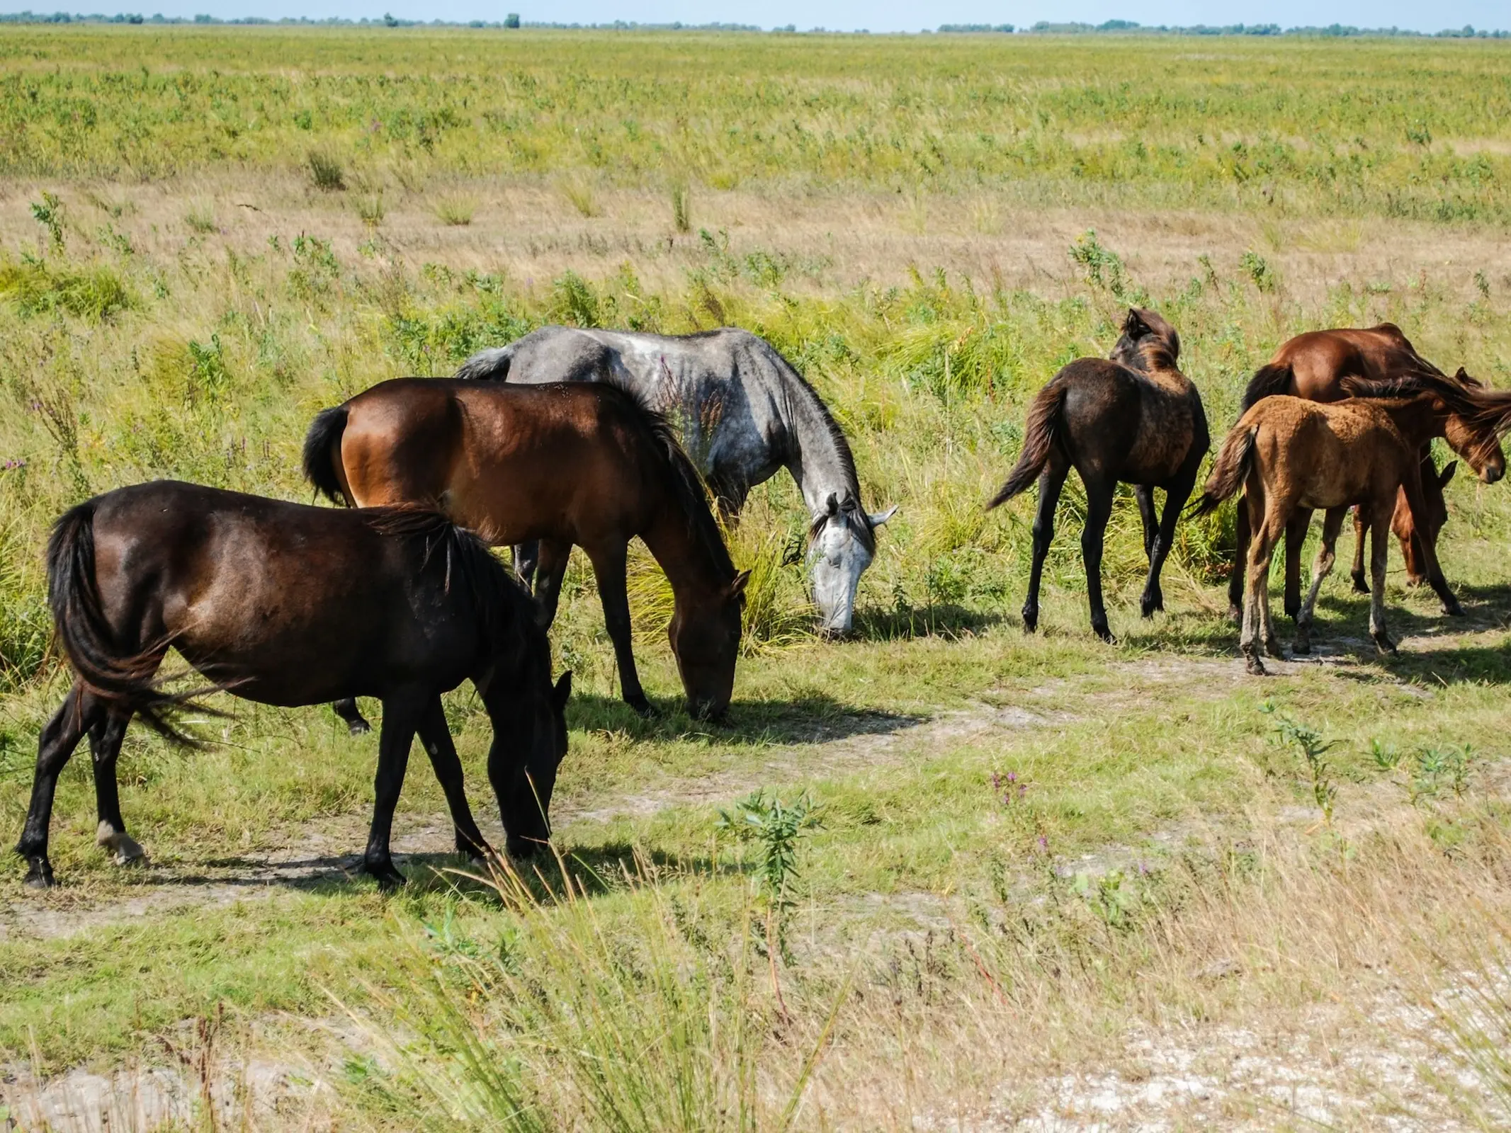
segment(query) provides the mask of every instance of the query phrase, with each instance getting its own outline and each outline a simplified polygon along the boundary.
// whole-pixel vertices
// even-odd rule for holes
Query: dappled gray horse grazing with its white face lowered
[[[542,326],[508,346],[479,350],[456,376],[613,381],[635,390],[677,426],[725,517],[739,514],[751,488],[787,468],[808,506],[813,601],[825,630],[849,630],[855,588],[876,554],[876,527],[896,508],[878,515],[861,508],[845,434],[765,338],[733,326],[686,335]],[[526,580],[535,554],[533,544],[515,548]]]

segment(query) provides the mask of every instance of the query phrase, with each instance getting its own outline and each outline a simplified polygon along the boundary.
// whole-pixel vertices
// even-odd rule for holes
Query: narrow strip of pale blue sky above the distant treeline
[[[502,20],[520,12],[524,20],[561,23],[745,23],[799,29],[831,27],[872,32],[917,32],[941,23],[1032,24],[1037,20],[1136,20],[1144,24],[1355,24],[1360,27],[1511,27],[1508,0],[0,0],[0,11],[50,12],[141,11],[147,15],[267,18],[308,15],[381,17],[385,11],[408,20]]]

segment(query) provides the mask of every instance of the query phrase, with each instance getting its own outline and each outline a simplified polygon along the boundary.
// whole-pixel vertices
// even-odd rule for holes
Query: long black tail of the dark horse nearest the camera
[[[166,645],[125,657],[113,645],[115,631],[104,616],[95,579],[94,515],[94,500],[80,503],[53,526],[47,542],[47,601],[57,639],[91,692],[141,716],[168,739],[199,746],[174,727],[172,716],[207,689],[163,692],[159,687],[157,668]]]

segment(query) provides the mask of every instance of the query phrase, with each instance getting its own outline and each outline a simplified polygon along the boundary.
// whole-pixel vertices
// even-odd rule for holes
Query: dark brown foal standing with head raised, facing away
[[[1006,503],[1038,479],[1034,565],[1023,604],[1023,625],[1031,633],[1038,627],[1040,579],[1055,536],[1055,505],[1071,468],[1086,486],[1080,553],[1086,566],[1091,628],[1103,641],[1115,641],[1102,601],[1102,542],[1120,482],[1133,485],[1144,521],[1148,580],[1142,613],[1148,618],[1165,609],[1159,573],[1210,440],[1201,394],[1177,369],[1179,358],[1176,328],[1154,311],[1132,308],[1109,360],[1077,358],[1029,405],[1023,452],[987,508]],[[1156,488],[1165,489],[1165,512],[1157,524]]]

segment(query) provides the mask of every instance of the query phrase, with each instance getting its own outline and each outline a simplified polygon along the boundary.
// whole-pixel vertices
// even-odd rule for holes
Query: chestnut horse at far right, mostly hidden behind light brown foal
[[[1411,341],[1393,323],[1381,323],[1369,329],[1340,328],[1333,331],[1309,331],[1290,338],[1262,366],[1244,391],[1244,411],[1254,406],[1260,397],[1289,394],[1309,402],[1339,402],[1348,394],[1343,390],[1346,378],[1364,381],[1392,381],[1413,375],[1445,378],[1432,363],[1416,352]],[[1479,387],[1473,378],[1460,369],[1455,381]],[[1505,474],[1505,453],[1491,443],[1481,449],[1476,438],[1464,435],[1454,423],[1446,424],[1446,440],[1461,456],[1470,461],[1485,483],[1494,483]],[[1401,541],[1401,554],[1407,563],[1407,576],[1413,583],[1422,583],[1426,571],[1422,559],[1422,536],[1437,545],[1437,533],[1448,520],[1443,488],[1454,476],[1451,464],[1441,473],[1432,464],[1431,443],[1422,447],[1422,495],[1426,502],[1429,521],[1419,532],[1407,508],[1405,495],[1398,497],[1392,512],[1392,529]],[[1293,530],[1286,533],[1286,613],[1295,616],[1301,606],[1301,544],[1306,539],[1309,515],[1298,515]],[[1364,532],[1369,520],[1360,512],[1355,518],[1354,589],[1367,592],[1364,586]],[[1228,610],[1238,616],[1244,600],[1244,562],[1248,554],[1248,512],[1238,512],[1238,560],[1228,577]],[[1460,613],[1457,606],[1446,610]]]

